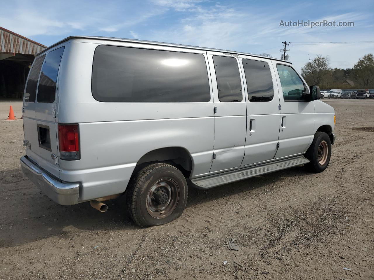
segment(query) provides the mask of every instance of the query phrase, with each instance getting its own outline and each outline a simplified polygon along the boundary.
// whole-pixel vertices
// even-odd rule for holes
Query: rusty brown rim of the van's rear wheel
[[[168,217],[177,207],[179,188],[171,179],[157,181],[147,195],[147,211],[156,219]]]

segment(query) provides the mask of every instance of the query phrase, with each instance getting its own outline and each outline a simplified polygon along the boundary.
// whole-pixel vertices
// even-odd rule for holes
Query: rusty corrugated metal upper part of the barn
[[[0,52],[36,55],[46,47],[36,41],[0,27]]]

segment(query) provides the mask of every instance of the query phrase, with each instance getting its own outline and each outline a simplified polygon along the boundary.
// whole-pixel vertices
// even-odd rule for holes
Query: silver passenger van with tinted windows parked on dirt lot
[[[61,205],[126,195],[140,226],[178,218],[188,186],[327,168],[334,109],[286,61],[151,41],[68,37],[24,92],[23,172]],[[248,181],[250,184],[250,181]]]

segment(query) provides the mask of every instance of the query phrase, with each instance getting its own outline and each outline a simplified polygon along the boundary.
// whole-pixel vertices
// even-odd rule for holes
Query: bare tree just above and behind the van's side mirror
[[[301,74],[305,80],[320,85],[329,70],[331,68],[328,56],[317,55],[312,61],[305,63],[301,68]]]

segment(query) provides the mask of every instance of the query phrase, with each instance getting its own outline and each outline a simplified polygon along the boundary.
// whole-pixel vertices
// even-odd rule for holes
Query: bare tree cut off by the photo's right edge
[[[364,88],[368,88],[374,82],[374,56],[372,53],[364,55],[353,66],[357,81]]]

